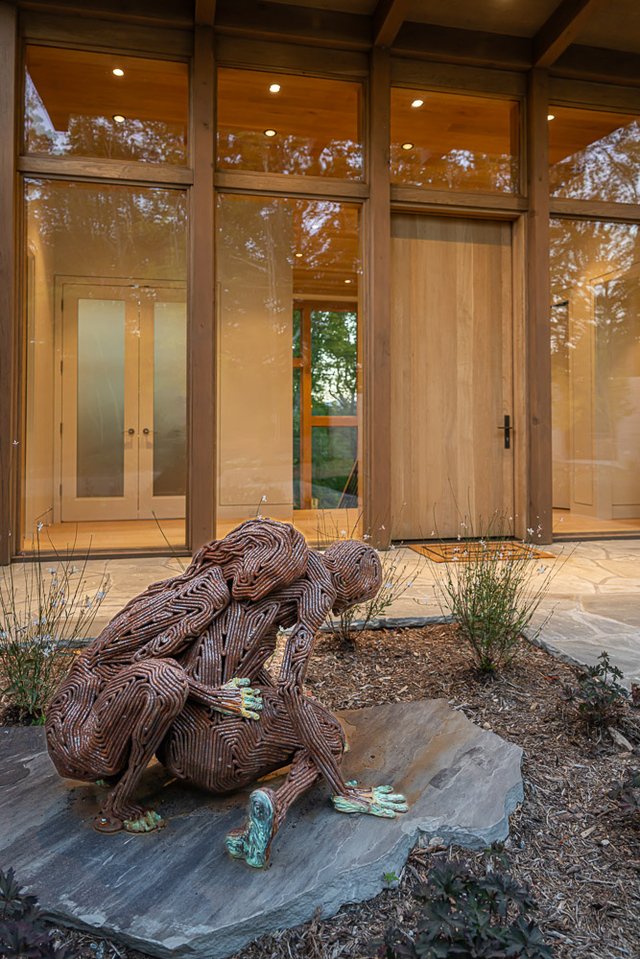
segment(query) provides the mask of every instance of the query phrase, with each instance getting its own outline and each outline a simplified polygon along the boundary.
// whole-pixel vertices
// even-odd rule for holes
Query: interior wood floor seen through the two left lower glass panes
[[[243,519],[218,523],[219,537],[235,529]],[[300,530],[310,546],[325,546],[336,539],[357,538],[361,529],[361,514],[358,510],[295,510],[293,524]],[[119,522],[52,523],[40,532],[42,552],[74,549],[126,552],[129,550],[183,550],[185,521],[183,519],[122,520]],[[29,541],[23,545],[24,553],[35,552]]]

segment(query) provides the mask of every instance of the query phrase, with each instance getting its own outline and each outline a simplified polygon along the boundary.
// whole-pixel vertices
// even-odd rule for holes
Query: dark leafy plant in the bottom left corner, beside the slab
[[[66,947],[56,946],[42,918],[35,896],[27,896],[13,869],[0,869],[0,956],[7,959],[74,959]]]

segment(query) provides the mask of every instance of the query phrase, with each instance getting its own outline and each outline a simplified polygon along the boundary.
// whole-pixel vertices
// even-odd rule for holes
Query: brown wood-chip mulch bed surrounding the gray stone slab
[[[331,709],[444,698],[486,729],[522,746],[525,802],[511,821],[504,852],[514,877],[531,885],[537,920],[557,959],[640,956],[640,824],[610,798],[612,784],[640,764],[640,711],[625,707],[617,729],[624,751],[604,731],[589,734],[562,696],[576,671],[522,641],[517,660],[483,681],[455,628],[430,626],[362,633],[349,646],[318,639],[307,685]],[[428,730],[425,731],[428,734]],[[246,947],[236,959],[356,959],[392,924],[411,927],[415,890],[443,858],[479,854],[437,846],[416,849],[397,888]],[[108,942],[65,933],[82,956],[135,959]]]

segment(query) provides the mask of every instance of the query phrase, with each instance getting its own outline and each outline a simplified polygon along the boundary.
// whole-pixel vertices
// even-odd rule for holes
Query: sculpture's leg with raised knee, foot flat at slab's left
[[[149,832],[162,825],[152,810],[132,801],[140,777],[188,695],[184,671],[172,660],[155,659],[125,666],[98,697],[93,710],[91,743],[109,756],[109,772],[124,773],[107,796],[95,828]],[[99,743],[99,746],[98,746]],[[114,768],[115,767],[115,768]]]

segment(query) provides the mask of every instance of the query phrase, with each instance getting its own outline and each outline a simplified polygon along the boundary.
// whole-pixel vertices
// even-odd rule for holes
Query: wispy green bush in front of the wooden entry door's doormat
[[[506,517],[496,514],[482,535],[460,537],[450,562],[431,562],[440,608],[452,617],[484,674],[511,663],[555,575],[552,566],[532,558],[530,543],[511,549],[512,538],[503,533],[507,528]]]

